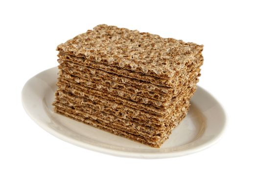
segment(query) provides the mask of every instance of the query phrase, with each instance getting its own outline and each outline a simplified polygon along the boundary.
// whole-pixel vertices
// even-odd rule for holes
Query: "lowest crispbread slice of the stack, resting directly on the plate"
[[[96,127],[96,128],[100,128],[102,130],[114,133],[114,134],[119,135],[119,136],[126,137],[126,138],[134,140],[134,141],[138,141],[142,144],[145,144],[145,145],[148,145],[148,146],[151,146],[151,147],[154,147],[154,148],[160,148],[160,146],[163,144],[163,142],[166,139],[168,139],[168,136],[171,133],[171,130],[173,128],[175,128],[177,125],[179,125],[180,121],[186,116],[186,113],[187,113],[187,109],[186,109],[185,111],[183,111],[181,113],[179,119],[177,119],[173,123],[172,127],[170,127],[168,131],[166,131],[165,135],[161,139],[159,139],[158,141],[155,141],[155,140],[152,141],[151,139],[147,139],[147,138],[145,138],[141,135],[135,135],[133,133],[129,133],[129,132],[126,132],[126,131],[118,129],[118,128],[113,128],[113,127],[111,127],[111,123],[102,124],[99,120],[95,119],[95,117],[93,119],[93,118],[90,118],[90,117],[84,117],[84,116],[78,115],[75,112],[74,109],[71,109],[71,112],[70,111],[68,112],[68,111],[65,110],[65,108],[55,106],[54,111],[56,113],[68,116],[68,117],[70,117],[74,120],[83,122],[85,124],[91,125],[91,126]]]

